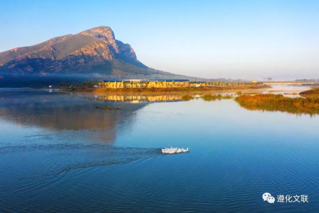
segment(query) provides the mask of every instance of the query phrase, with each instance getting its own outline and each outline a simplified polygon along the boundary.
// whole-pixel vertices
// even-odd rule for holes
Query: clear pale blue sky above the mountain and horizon
[[[0,51],[106,25],[168,72],[319,78],[318,11],[318,0],[4,0]]]

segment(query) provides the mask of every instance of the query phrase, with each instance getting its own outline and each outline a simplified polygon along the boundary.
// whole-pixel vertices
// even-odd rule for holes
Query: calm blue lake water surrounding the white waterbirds
[[[0,212],[319,212],[318,128],[232,99],[2,88]]]

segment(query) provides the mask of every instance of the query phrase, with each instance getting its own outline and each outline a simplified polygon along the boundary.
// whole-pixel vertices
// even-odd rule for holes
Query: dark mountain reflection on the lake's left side
[[[27,95],[27,98],[24,97]],[[91,98],[89,98],[91,97]],[[99,98],[46,91],[0,91],[0,118],[19,126],[36,126],[54,131],[95,131],[102,141],[114,141],[116,127],[134,118],[147,103],[129,104],[95,101]],[[109,107],[123,110],[99,110]],[[132,122],[129,122],[132,123]],[[129,125],[129,123],[127,123]],[[97,134],[98,133],[98,134]]]

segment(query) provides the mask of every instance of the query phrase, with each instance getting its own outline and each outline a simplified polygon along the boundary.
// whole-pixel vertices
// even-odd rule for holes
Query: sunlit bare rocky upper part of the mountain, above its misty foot
[[[0,72],[4,73],[58,73],[121,66],[147,66],[137,60],[133,48],[115,39],[112,29],[99,26],[77,34],[52,38],[42,43],[0,52]],[[113,64],[110,66],[110,64]],[[105,67],[105,68],[101,68]],[[106,71],[105,71],[106,72]]]

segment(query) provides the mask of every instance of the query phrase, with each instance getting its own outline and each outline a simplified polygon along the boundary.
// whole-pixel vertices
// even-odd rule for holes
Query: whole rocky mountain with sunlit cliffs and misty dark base
[[[186,78],[147,67],[129,44],[100,26],[0,53],[0,86],[100,78]]]

